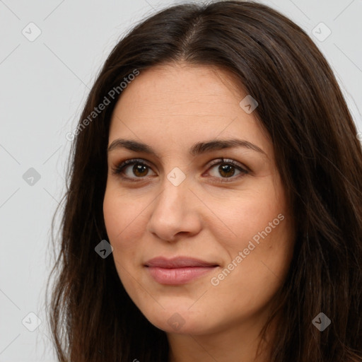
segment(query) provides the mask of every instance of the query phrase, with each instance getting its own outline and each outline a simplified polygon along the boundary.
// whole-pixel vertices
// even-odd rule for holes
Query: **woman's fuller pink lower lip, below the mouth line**
[[[186,284],[189,281],[199,278],[216,267],[184,267],[184,268],[160,268],[147,267],[149,273],[160,284]]]

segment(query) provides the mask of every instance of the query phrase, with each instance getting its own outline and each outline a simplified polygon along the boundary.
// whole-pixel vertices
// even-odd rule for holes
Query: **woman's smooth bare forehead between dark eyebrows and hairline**
[[[239,105],[246,95],[228,72],[215,67],[155,66],[141,71],[122,91],[109,143],[121,136],[155,146],[240,137],[272,153],[255,114]]]

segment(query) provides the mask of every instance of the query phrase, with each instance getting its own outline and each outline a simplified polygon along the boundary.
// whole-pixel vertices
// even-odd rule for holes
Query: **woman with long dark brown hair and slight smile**
[[[69,165],[59,361],[362,361],[362,153],[312,40],[252,2],[137,25]]]

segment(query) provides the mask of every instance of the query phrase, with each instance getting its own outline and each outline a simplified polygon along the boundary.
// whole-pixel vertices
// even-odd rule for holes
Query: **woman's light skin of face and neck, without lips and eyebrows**
[[[240,107],[245,95],[224,71],[168,64],[141,71],[112,115],[109,146],[126,139],[155,152],[121,146],[108,152],[103,211],[119,278],[145,317],[166,332],[170,362],[269,361],[268,345],[255,357],[259,332],[290,267],[294,237],[273,146],[255,112]],[[262,151],[234,146],[189,153],[198,142],[228,139]],[[135,161],[141,172],[131,164],[123,169],[129,179],[112,173],[133,158],[146,163]],[[174,168],[185,175],[177,186],[168,178]],[[278,215],[283,221],[245,255]],[[242,262],[235,261],[239,252]],[[144,267],[153,257],[179,255],[218,267],[177,286],[158,283]],[[219,276],[233,260],[233,270]]]

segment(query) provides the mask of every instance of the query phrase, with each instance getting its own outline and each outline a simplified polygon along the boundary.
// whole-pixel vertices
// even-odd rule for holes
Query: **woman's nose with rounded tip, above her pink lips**
[[[166,179],[163,191],[150,206],[153,209],[148,220],[148,232],[169,243],[197,235],[202,228],[198,203],[189,189],[187,177],[178,186]]]

